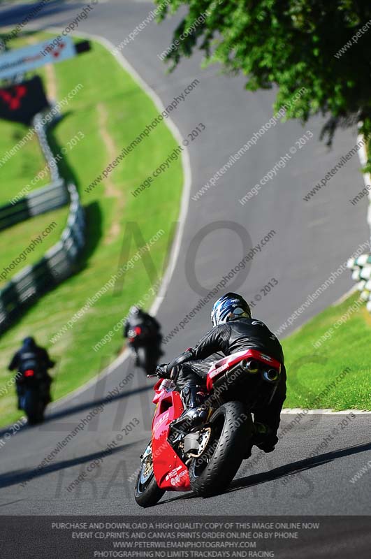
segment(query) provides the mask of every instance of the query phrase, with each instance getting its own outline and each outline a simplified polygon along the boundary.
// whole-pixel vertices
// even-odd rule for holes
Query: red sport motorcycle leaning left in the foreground
[[[136,502],[150,507],[165,491],[208,497],[226,488],[251,448],[252,409],[269,404],[280,374],[281,364],[255,349],[215,361],[206,378],[205,418],[188,429],[175,422],[184,411],[175,384],[160,379],[154,386],[152,440],[140,456]]]

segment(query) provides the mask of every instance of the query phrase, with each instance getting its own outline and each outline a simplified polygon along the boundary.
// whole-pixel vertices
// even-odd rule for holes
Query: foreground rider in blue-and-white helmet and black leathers
[[[279,384],[270,404],[263,409],[252,410],[252,444],[256,444],[265,452],[271,452],[278,441],[280,414],[286,399],[286,370],[281,344],[263,322],[252,318],[249,305],[237,293],[226,293],[214,303],[211,321],[212,330],[206,333],[194,348],[187,349],[167,365],[157,367],[159,377],[175,381],[184,405],[187,406],[182,415],[173,421],[173,426],[180,429],[182,425],[187,425],[187,428],[194,427],[205,417],[205,407],[202,405],[205,399],[203,379],[210,368],[210,362],[198,360],[205,360],[219,351],[227,356],[237,351],[256,349],[282,364]],[[216,359],[213,358],[212,361]],[[251,453],[251,448],[248,453]]]

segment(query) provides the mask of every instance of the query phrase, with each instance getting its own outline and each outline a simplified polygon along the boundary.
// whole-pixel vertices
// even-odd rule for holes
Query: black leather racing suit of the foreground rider
[[[169,363],[168,371],[170,372],[170,369],[175,367],[175,365],[182,365],[177,376],[177,389],[182,391],[182,393],[185,390],[187,396],[188,393],[194,392],[192,387],[200,386],[200,379],[205,379],[210,368],[210,359],[208,362],[197,360],[205,360],[217,352],[221,352],[226,356],[244,349],[263,351],[270,357],[277,359],[279,363],[282,363],[282,374],[270,404],[254,412],[254,421],[268,426],[275,442],[277,442],[276,434],[279,427],[280,414],[286,399],[286,370],[282,346],[277,337],[263,322],[244,318],[215,326],[210,332],[205,334],[194,348],[184,351],[184,354]],[[216,356],[211,361],[215,361],[217,358],[219,356]],[[187,402],[187,398],[185,398],[185,402],[190,407],[197,404],[197,402],[193,401]]]

